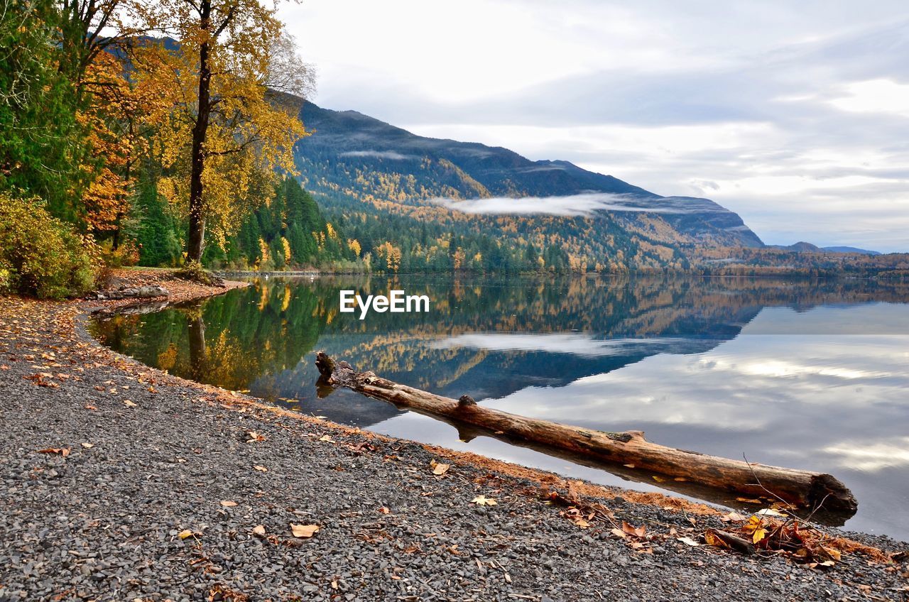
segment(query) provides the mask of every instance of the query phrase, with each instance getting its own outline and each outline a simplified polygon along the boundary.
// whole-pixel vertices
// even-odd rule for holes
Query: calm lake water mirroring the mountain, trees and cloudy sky
[[[361,321],[338,312],[342,288],[404,288],[430,296],[431,311]],[[105,345],[176,375],[605,484],[660,490],[488,436],[463,442],[453,426],[350,391],[319,398],[314,352],[516,414],[829,472],[859,500],[846,527],[909,539],[909,285],[271,278],[94,327]]]

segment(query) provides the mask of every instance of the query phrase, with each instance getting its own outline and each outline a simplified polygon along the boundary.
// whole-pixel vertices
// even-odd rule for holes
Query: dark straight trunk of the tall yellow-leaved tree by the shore
[[[202,0],[199,5],[200,27],[211,29],[211,0]],[[211,83],[212,70],[208,64],[209,43],[199,45],[199,94],[198,113],[193,126],[193,147],[190,156],[189,173],[189,239],[186,243],[186,260],[202,262],[205,245],[205,211],[202,199],[202,172],[205,169],[205,138],[208,135],[208,121],[212,113]]]

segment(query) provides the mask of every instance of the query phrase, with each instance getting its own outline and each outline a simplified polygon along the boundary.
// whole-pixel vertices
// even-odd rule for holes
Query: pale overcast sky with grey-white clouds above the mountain
[[[706,196],[768,244],[909,251],[902,1],[303,0],[312,100]]]

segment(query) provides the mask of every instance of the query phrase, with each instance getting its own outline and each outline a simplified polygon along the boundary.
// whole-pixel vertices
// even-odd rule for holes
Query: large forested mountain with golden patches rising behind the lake
[[[457,249],[462,267],[492,254],[500,265],[484,268],[561,262],[586,271],[685,267],[688,249],[764,246],[709,199],[659,196],[567,161],[415,135],[355,111],[306,102],[301,117],[313,132],[295,147],[302,183],[364,255],[385,261],[389,246],[399,248],[402,271],[441,265],[436,256]],[[459,206],[465,199],[474,200]],[[476,210],[483,199],[495,199],[497,213]]]

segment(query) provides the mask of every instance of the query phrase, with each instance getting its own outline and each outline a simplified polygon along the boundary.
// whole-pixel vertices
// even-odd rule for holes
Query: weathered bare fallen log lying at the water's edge
[[[437,396],[401,385],[372,372],[357,372],[347,362],[335,362],[323,352],[315,365],[323,381],[345,386],[366,396],[444,416],[456,423],[478,426],[511,438],[564,449],[599,462],[633,465],[671,478],[724,489],[747,497],[777,497],[795,507],[854,514],[858,507],[852,492],[831,475],[794,468],[772,467],[651,443],[641,431],[604,432],[582,426],[509,414],[477,405],[469,396]]]

